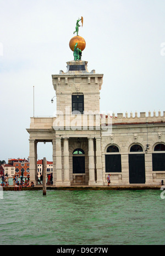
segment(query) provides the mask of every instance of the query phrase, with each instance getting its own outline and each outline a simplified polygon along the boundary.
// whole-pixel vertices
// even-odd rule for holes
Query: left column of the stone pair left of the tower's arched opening
[[[56,171],[57,171],[56,186],[63,186],[61,138],[56,138]]]

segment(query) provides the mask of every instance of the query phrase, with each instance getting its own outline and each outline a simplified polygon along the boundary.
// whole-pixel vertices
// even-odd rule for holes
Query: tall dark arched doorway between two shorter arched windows
[[[145,154],[142,146],[135,144],[129,152],[129,183],[145,183]]]

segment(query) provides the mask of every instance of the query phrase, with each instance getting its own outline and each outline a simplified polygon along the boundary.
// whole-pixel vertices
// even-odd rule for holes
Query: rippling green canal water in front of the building
[[[165,244],[161,190],[3,191],[0,244]]]

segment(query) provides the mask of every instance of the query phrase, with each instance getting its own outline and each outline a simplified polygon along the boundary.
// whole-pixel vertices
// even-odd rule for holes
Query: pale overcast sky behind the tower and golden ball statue
[[[101,111],[165,111],[165,0],[0,0],[0,160],[29,156],[30,117],[53,116],[52,74],[73,60],[79,35],[89,72],[103,74]],[[52,145],[38,144],[52,160]]]

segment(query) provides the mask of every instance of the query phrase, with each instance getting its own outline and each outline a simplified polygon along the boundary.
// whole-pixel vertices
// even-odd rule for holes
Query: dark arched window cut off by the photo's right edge
[[[160,143],[152,153],[152,171],[165,171],[165,145]]]

